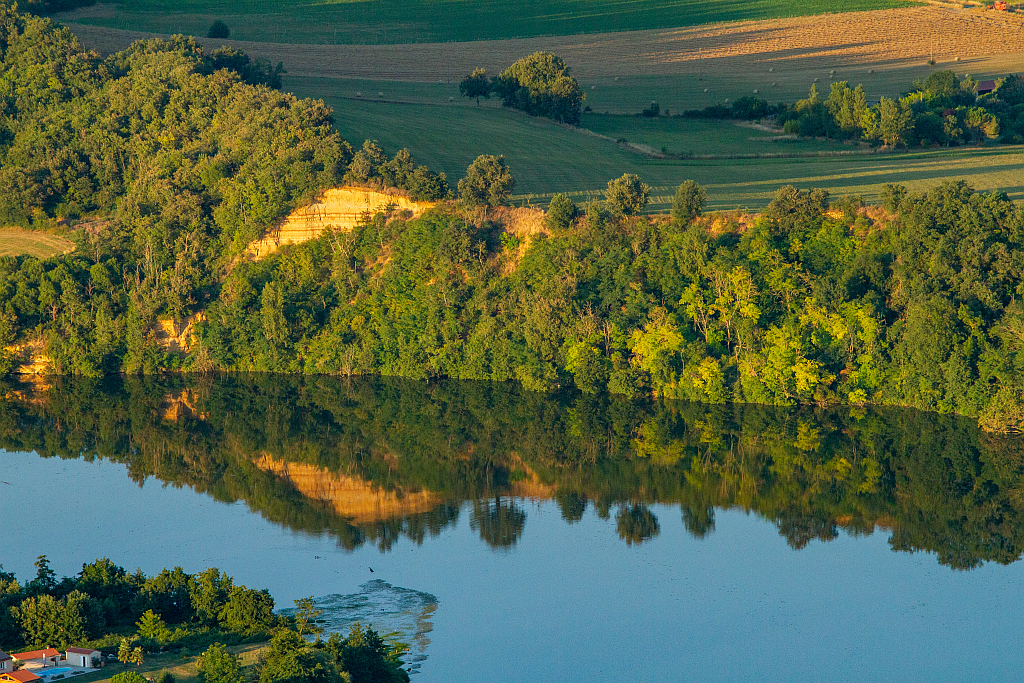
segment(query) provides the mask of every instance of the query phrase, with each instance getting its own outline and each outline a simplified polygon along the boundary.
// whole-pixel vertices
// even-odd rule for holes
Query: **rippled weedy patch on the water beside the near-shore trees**
[[[409,646],[402,658],[410,673],[427,659],[433,615],[437,611],[437,598],[429,593],[392,586],[385,581],[367,582],[358,593],[326,595],[316,598],[316,607],[324,610],[317,620],[327,635],[348,635],[354,624],[371,627],[381,636],[393,637]],[[292,614],[294,609],[282,609]]]

